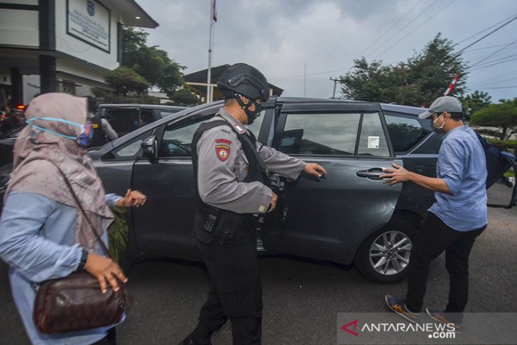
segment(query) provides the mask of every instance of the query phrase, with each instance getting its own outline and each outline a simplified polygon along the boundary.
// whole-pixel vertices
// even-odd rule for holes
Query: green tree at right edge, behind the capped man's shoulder
[[[470,125],[497,128],[497,130],[485,129],[484,131],[501,140],[509,140],[512,135],[517,133],[516,103],[517,100],[505,101],[481,108],[472,114]]]

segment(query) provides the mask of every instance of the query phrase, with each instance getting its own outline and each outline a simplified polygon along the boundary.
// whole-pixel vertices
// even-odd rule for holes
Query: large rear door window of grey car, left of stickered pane
[[[352,155],[359,113],[290,113],[280,144],[287,154]]]

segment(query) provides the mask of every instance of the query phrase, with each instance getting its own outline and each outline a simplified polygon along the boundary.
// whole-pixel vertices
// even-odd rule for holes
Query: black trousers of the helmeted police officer
[[[191,339],[194,344],[211,344],[212,333],[229,319],[234,345],[261,344],[263,304],[256,217],[223,213],[213,234],[203,230],[205,219],[197,213],[194,227],[212,289]]]

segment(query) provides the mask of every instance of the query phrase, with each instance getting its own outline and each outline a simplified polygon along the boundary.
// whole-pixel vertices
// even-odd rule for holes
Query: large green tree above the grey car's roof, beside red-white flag
[[[467,66],[453,50],[453,42],[438,33],[421,52],[394,66],[377,60],[368,64],[364,57],[355,60],[353,70],[341,76],[343,97],[421,106],[442,96],[456,73],[454,95],[462,96]]]

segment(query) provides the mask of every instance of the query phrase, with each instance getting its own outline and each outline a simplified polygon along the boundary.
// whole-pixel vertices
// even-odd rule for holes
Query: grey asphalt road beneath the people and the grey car
[[[506,203],[509,188],[496,183],[489,201]],[[489,226],[472,249],[467,312],[517,312],[517,209],[489,209]],[[405,282],[365,281],[356,268],[272,256],[261,259],[264,290],[263,344],[336,344],[338,312],[385,311],[383,296],[403,295]],[[130,272],[137,301],[118,329],[119,344],[177,344],[195,326],[208,291],[202,265],[144,261]],[[426,305],[442,306],[448,295],[443,256],[431,266]],[[0,344],[28,344],[0,264]],[[224,327],[213,343],[231,344]]]

